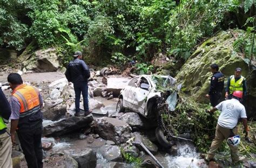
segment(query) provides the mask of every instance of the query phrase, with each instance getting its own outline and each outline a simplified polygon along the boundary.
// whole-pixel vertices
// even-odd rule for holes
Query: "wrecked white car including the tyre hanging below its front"
[[[117,103],[117,112],[134,111],[146,118],[157,120],[156,138],[162,146],[170,148],[176,137],[167,129],[163,117],[174,111],[177,103],[177,91],[181,85],[175,85],[176,79],[171,76],[140,75],[131,79],[121,90]],[[167,123],[170,125],[171,123]]]

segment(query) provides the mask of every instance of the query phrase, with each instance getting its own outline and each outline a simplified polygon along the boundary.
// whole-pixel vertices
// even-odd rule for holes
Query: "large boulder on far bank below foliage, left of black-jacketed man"
[[[25,71],[54,72],[62,67],[62,64],[56,48],[48,48],[36,51],[28,60],[23,62],[23,67]]]

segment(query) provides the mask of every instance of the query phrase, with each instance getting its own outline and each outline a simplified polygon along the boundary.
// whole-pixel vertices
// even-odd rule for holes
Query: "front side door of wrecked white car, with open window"
[[[131,90],[132,92],[132,99],[133,99],[133,111],[136,111],[142,115],[145,113],[146,108],[146,102],[147,102],[147,96],[150,93],[151,84],[149,80],[147,80],[144,76],[139,78],[139,81],[137,82],[138,87]]]

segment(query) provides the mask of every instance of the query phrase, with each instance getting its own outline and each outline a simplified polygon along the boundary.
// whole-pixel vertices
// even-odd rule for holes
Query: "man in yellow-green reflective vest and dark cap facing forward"
[[[246,79],[242,74],[241,68],[236,68],[234,75],[231,75],[230,78],[227,79],[227,87],[225,89],[225,97],[226,99],[231,99],[232,94],[235,90],[242,91],[243,99],[246,96]],[[241,99],[241,102],[242,100]]]

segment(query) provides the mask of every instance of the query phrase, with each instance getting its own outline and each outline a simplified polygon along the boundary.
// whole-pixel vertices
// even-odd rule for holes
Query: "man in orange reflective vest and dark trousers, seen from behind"
[[[23,84],[21,75],[8,75],[12,94],[11,105],[11,141],[15,143],[15,131],[21,143],[29,168],[43,167],[43,99],[36,87]]]

